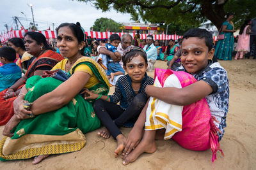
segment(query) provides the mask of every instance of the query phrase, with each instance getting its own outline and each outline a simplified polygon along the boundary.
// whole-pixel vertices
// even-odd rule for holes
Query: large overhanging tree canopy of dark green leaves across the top
[[[90,2],[97,9],[113,8],[152,23],[198,27],[207,19],[220,29],[226,13],[234,13],[236,29],[246,18],[256,17],[255,0],[77,0]]]

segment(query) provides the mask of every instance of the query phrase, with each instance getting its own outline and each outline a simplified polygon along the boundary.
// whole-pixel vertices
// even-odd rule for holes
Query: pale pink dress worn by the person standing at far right
[[[243,34],[239,35],[239,39],[237,41],[236,51],[237,52],[250,52],[250,34],[246,34],[246,29],[250,25],[244,27]]]

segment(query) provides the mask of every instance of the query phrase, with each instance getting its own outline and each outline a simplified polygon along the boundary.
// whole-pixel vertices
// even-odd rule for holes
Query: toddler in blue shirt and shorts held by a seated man
[[[118,36],[118,34],[111,34],[111,36],[109,37],[109,41],[110,41],[110,43],[106,44],[106,48],[109,51],[115,53],[116,57],[121,58],[122,56],[116,49],[121,41],[120,36]],[[113,81],[115,76],[125,74],[122,66],[120,66],[120,64],[118,62],[114,62],[113,59],[111,59],[111,57],[109,55],[106,55],[106,60],[108,62],[106,74],[108,76],[108,79],[110,78],[110,81]]]

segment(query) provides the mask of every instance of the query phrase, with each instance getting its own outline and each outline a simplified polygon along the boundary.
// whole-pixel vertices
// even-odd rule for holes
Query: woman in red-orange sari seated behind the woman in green
[[[34,75],[42,75],[45,70],[52,69],[55,64],[64,59],[60,54],[52,52],[45,39],[39,32],[27,32],[24,36],[25,48],[34,57],[28,60],[28,70],[19,80],[8,89],[0,92],[0,125],[5,125],[13,116],[13,101],[19,95],[26,80]]]

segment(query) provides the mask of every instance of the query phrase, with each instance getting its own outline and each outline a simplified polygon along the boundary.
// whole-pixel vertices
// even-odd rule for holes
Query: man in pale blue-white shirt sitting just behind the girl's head
[[[147,71],[152,71],[157,59],[157,49],[154,46],[154,39],[152,35],[148,35],[146,39],[147,45],[144,46],[143,50],[147,53],[148,67]]]

